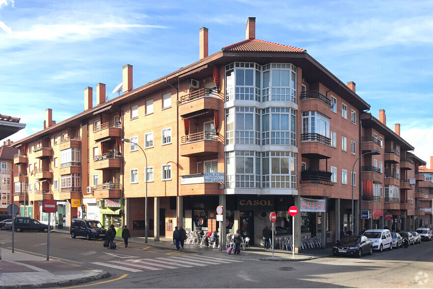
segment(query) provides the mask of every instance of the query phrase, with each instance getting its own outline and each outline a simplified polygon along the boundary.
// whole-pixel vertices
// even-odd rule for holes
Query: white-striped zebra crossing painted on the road
[[[184,255],[184,256],[170,256],[170,257],[157,257],[157,258],[142,258],[142,259],[128,259],[107,262],[92,262],[91,264],[129,271],[129,272],[142,272],[142,271],[157,271],[166,269],[179,269],[190,268],[197,266],[208,266],[217,264],[227,264],[243,262],[242,260],[230,260],[216,257],[205,257],[197,255]]]

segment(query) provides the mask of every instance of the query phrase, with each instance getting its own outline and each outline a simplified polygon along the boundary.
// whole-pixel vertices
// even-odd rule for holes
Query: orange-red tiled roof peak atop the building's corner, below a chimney
[[[226,46],[222,51],[249,51],[249,52],[307,52],[292,46],[277,44],[259,39],[246,39],[244,41]]]

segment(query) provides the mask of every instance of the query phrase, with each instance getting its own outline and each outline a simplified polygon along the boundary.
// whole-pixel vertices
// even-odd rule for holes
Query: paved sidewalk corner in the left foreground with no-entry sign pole
[[[47,261],[7,248],[1,248],[0,289],[63,287],[107,278],[108,272],[79,265]]]

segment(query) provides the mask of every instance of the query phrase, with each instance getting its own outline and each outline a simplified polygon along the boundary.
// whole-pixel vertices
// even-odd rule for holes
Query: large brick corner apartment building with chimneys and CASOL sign
[[[353,182],[359,231],[361,179],[387,184],[383,174],[361,175],[361,163],[370,165],[372,156],[351,175],[360,153],[372,149],[361,136],[374,137],[375,130],[383,138],[382,164],[394,143],[404,158],[413,147],[374,117],[364,120],[370,105],[353,82],[344,85],[303,49],[256,39],[255,18],[248,18],[245,40],[215,54],[208,55],[208,29],[200,29],[199,39],[198,61],[138,88],[133,66],[125,65],[122,95],[106,101],[100,83],[92,107],[87,87],[82,113],[56,123],[48,109],[44,129],[14,144],[33,216],[44,221],[39,201],[53,199],[58,228],[86,217],[117,229],[126,224],[142,236],[147,178],[147,230],[155,239],[171,236],[176,225],[218,229],[222,205],[223,234],[241,229],[257,244],[271,211],[277,235],[290,234],[287,209],[296,205],[296,235],[320,236],[325,245],[340,228],[350,229]],[[397,169],[389,163],[385,173]],[[402,177],[412,177],[406,171]],[[397,193],[404,200],[414,194]],[[380,209],[394,209],[381,200]]]

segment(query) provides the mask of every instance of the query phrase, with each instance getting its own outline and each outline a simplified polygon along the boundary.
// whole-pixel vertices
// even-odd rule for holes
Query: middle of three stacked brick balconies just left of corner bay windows
[[[199,132],[182,136],[180,155],[186,157],[201,157],[217,154],[221,146],[220,136],[216,132]]]

